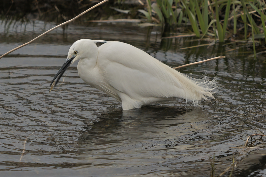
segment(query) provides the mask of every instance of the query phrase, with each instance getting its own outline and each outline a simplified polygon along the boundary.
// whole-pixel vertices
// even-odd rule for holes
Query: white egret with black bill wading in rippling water
[[[105,44],[98,48],[97,42]],[[212,81],[193,79],[130,44],[89,39],[78,40],[70,47],[51,89],[77,60],[80,60],[77,68],[81,79],[122,102],[123,110],[175,98],[199,106],[201,99],[214,98],[215,78]]]

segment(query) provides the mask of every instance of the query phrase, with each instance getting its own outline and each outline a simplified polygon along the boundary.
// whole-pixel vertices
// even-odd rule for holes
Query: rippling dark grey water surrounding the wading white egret
[[[0,54],[28,42],[53,23],[1,21]],[[266,176],[265,54],[247,45],[205,44],[193,38],[161,40],[160,27],[137,24],[69,25],[0,60],[1,176]],[[179,66],[192,77],[218,76],[217,100],[201,108],[185,101],[122,110],[114,98],[85,84],[77,63],[49,93],[49,84],[81,38],[118,40]],[[19,42],[18,42],[19,41]],[[236,49],[236,50],[231,50]],[[25,141],[26,140],[26,141]],[[25,150],[23,153],[23,149]]]

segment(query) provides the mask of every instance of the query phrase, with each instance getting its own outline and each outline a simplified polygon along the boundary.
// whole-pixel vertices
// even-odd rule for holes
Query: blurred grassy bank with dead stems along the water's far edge
[[[62,23],[98,2],[1,0],[0,15],[6,20],[38,19]],[[145,26],[161,25],[162,31],[174,32],[185,27],[186,32],[198,38],[215,38],[215,42],[252,41],[255,49],[266,44],[265,10],[264,0],[110,0],[76,23],[139,19]]]

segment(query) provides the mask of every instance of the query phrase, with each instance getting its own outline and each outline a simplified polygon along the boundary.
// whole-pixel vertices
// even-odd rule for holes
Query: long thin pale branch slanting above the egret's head
[[[100,2],[100,3],[98,3],[98,4],[96,4],[95,6],[89,8],[88,10],[86,10],[86,11],[84,11],[84,12],[82,12],[80,15],[74,17],[73,19],[68,20],[68,21],[66,21],[66,22],[64,22],[64,23],[61,23],[60,25],[57,25],[56,27],[53,27],[52,29],[49,29],[48,31],[46,31],[46,32],[44,32],[43,34],[41,34],[40,36],[34,38],[34,39],[31,40],[30,42],[27,42],[27,43],[25,43],[25,44],[23,44],[23,45],[21,45],[21,46],[16,47],[15,49],[12,49],[12,50],[8,51],[7,53],[5,53],[5,54],[3,54],[2,56],[0,56],[0,59],[3,58],[3,57],[5,57],[7,54],[9,54],[9,53],[11,53],[11,52],[17,50],[17,49],[22,48],[22,47],[24,47],[25,45],[28,45],[28,44],[32,43],[33,41],[35,41],[36,39],[38,39],[38,38],[44,36],[45,34],[49,33],[50,31],[53,31],[54,29],[56,29],[56,28],[58,28],[58,27],[61,27],[61,26],[65,25],[65,24],[67,24],[67,23],[69,23],[69,22],[72,22],[72,21],[76,20],[76,19],[79,18],[80,16],[86,14],[86,13],[89,12],[90,10],[94,9],[95,7],[98,7],[99,5],[105,3],[106,1],[109,1],[109,0],[104,0],[104,1],[102,1],[102,2]]]

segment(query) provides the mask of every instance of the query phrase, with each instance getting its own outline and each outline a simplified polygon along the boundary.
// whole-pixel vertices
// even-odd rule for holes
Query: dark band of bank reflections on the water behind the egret
[[[28,22],[24,23],[23,21],[18,22],[10,19],[2,19],[0,23],[4,24],[0,25],[0,40],[7,43],[17,43],[17,41],[26,43],[29,38],[34,38],[56,25],[55,23],[40,20],[35,20],[33,25],[27,25]],[[257,60],[255,61],[252,58],[252,50],[245,45],[238,46],[234,49],[235,44],[224,46],[223,43],[213,43],[214,45],[210,46],[179,50],[180,48],[188,46],[207,44],[209,41],[197,40],[191,37],[161,39],[161,36],[167,37],[170,34],[172,36],[175,35],[171,28],[164,28],[164,31],[161,31],[161,27],[139,28],[136,24],[131,23],[127,27],[119,24],[115,26],[110,24],[95,26],[95,24],[88,23],[86,25],[87,26],[70,24],[66,28],[57,28],[46,37],[37,40],[37,43],[71,45],[81,38],[117,40],[138,46],[155,57],[158,56],[158,51],[163,52],[165,54],[163,58],[160,56],[157,58],[165,61],[169,65],[174,63],[175,66],[225,55],[226,58],[221,60],[194,65],[190,68],[214,68],[211,72],[226,70],[227,72],[234,73],[236,71],[241,71],[242,74],[246,73],[253,77],[260,75],[262,78],[265,78],[265,56],[261,53],[257,55]],[[14,47],[15,46],[17,46],[17,44],[14,45]],[[3,50],[2,53],[4,51],[6,50]],[[172,58],[171,55],[173,53],[185,54],[182,56],[184,59],[181,60],[182,58],[177,58],[176,56]],[[235,59],[231,59],[232,57]],[[181,68],[180,71],[185,73],[191,72],[187,71],[186,68]]]

